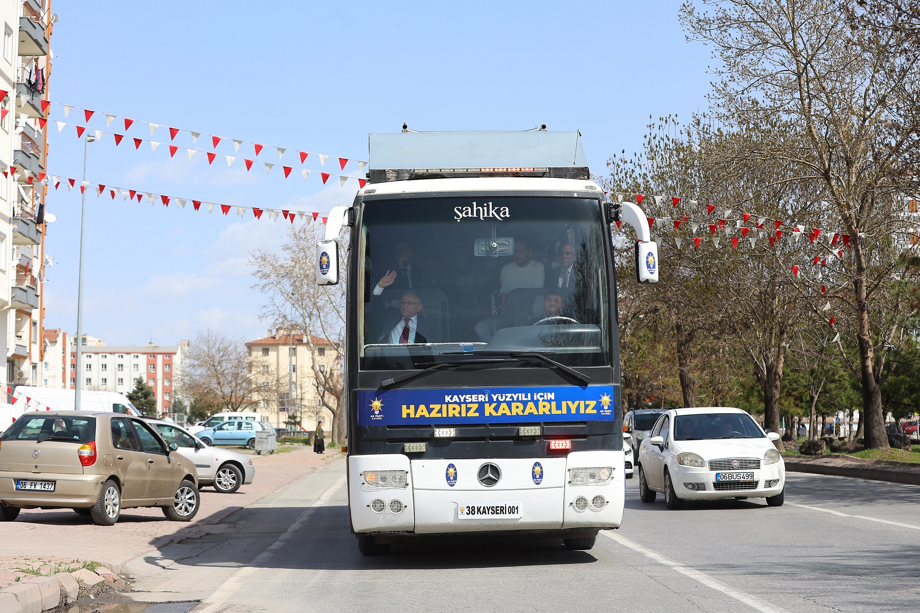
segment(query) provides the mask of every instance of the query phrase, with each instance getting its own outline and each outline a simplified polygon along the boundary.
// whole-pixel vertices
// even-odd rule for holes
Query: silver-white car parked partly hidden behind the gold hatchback
[[[198,471],[198,484],[213,485],[221,494],[233,494],[241,485],[248,485],[256,476],[252,458],[232,449],[209,447],[188,430],[176,424],[148,419],[167,444],[175,444],[177,451],[188,458]]]

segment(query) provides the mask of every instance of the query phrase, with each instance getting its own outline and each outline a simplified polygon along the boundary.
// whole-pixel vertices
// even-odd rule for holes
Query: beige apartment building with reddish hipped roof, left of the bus
[[[253,410],[265,414],[275,426],[285,426],[289,416],[298,417],[307,431],[314,430],[320,419],[327,430],[332,423],[332,413],[317,391],[313,364],[316,360],[320,372],[338,369],[335,346],[318,336],[311,335],[310,341],[312,352],[304,335],[278,329],[246,344],[249,371],[257,390],[254,396],[259,402],[259,408]]]

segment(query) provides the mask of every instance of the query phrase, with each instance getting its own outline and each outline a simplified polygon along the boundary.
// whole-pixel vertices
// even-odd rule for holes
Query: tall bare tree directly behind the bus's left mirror
[[[345,422],[345,281],[316,285],[316,242],[323,237],[318,224],[292,226],[281,254],[259,249],[249,256],[255,288],[268,301],[263,316],[290,331],[302,331],[310,352],[316,394],[332,414],[332,443],[347,436]],[[347,249],[347,244],[343,245]],[[319,350],[325,354],[319,356]],[[322,367],[322,368],[320,368]]]

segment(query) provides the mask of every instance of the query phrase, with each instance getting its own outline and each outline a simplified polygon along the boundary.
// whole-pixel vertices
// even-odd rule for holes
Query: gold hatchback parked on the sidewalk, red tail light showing
[[[0,437],[0,519],[23,508],[72,508],[99,526],[121,509],[159,506],[174,521],[198,513],[195,467],[155,427],[118,413],[43,411]]]

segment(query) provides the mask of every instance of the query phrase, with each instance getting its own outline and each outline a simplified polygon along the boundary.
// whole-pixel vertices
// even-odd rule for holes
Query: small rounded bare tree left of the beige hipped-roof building
[[[259,402],[258,373],[253,372],[242,338],[208,328],[189,345],[185,368],[177,381],[180,393],[192,402],[222,411],[245,411]]]

